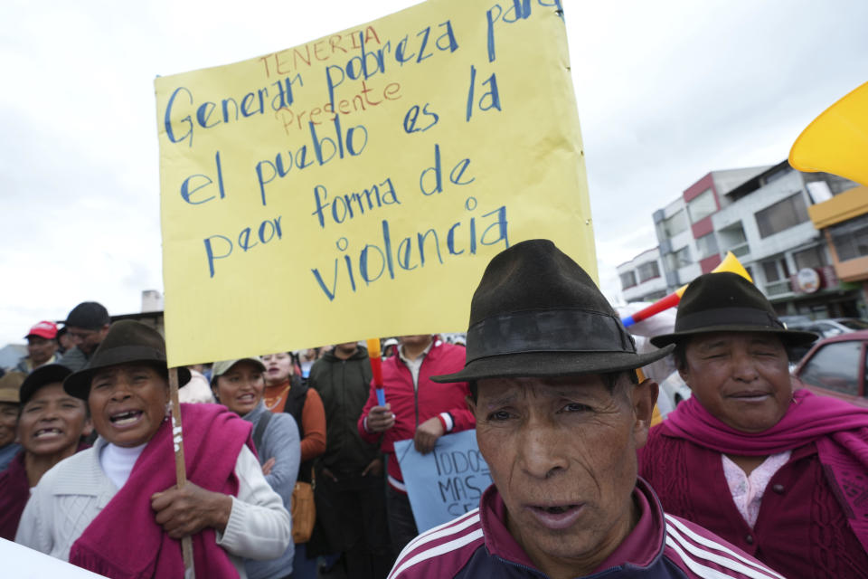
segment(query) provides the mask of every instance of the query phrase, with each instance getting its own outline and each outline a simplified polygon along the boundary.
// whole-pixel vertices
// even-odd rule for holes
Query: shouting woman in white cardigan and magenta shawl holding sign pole
[[[42,477],[18,543],[110,577],[181,576],[182,536],[193,537],[203,577],[246,577],[242,558],[286,550],[288,512],[250,450],[250,422],[237,414],[182,406],[189,482],[175,487],[167,375],[156,330],[134,321],[109,329],[63,384],[89,404],[99,439]]]

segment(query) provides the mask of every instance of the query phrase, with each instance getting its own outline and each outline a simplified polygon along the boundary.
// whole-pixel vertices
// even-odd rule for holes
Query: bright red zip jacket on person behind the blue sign
[[[395,458],[395,441],[413,438],[417,426],[441,414],[444,414],[441,415],[441,420],[445,423],[447,432],[466,431],[476,427],[473,413],[467,407],[467,396],[470,394],[467,382],[437,384],[430,381],[431,376],[458,372],[464,367],[464,360],[463,347],[435,341],[422,359],[418,388],[413,387],[413,375],[401,360],[401,356],[392,356],[382,361],[383,391],[386,394],[386,403],[391,404],[395,424],[385,432],[368,432],[365,429],[365,418],[373,406],[377,405],[377,394],[372,382],[368,402],[364,404],[357,426],[364,441],[380,441],[381,450],[388,455],[389,476],[399,483],[403,481],[403,477]]]

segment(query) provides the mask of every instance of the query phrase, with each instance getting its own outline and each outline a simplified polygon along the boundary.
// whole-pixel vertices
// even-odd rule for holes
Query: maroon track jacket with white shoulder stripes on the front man
[[[636,527],[596,571],[583,577],[779,577],[703,527],[666,514],[654,491],[642,479],[637,480],[633,500],[640,512]],[[389,579],[541,579],[544,576],[506,528],[506,506],[492,485],[479,501],[479,508],[410,541],[398,556]]]

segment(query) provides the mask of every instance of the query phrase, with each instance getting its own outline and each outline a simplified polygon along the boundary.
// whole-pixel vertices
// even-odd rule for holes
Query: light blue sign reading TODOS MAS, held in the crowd
[[[398,441],[395,456],[420,533],[478,507],[492,482],[476,445],[476,430],[441,436],[428,454],[416,451],[412,440]]]

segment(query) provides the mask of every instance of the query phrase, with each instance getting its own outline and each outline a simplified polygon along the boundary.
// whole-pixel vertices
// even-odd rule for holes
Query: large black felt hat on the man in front
[[[671,350],[637,354],[579,264],[549,240],[531,240],[488,263],[470,302],[464,369],[431,380],[604,374],[639,368]]]

